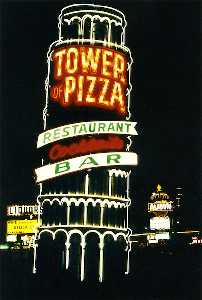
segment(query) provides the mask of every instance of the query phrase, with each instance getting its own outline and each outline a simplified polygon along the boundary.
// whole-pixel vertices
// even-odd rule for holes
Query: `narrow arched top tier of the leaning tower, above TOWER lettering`
[[[94,4],[64,7],[58,17],[59,43],[90,44],[128,52],[125,16],[115,8]]]

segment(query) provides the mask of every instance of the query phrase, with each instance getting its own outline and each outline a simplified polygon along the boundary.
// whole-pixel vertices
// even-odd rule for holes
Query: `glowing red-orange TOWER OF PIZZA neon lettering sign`
[[[54,51],[52,60],[53,101],[126,115],[126,55],[103,47],[66,46]]]

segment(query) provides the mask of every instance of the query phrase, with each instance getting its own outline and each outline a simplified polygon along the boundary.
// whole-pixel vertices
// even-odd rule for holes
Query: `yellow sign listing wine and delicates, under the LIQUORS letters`
[[[11,220],[7,221],[7,234],[24,234],[34,233],[34,226],[38,223],[38,220]],[[40,220],[40,226],[42,220]],[[38,232],[38,229],[35,228]]]

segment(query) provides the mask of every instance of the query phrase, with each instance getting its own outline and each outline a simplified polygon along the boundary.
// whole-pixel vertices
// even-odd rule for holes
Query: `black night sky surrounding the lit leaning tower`
[[[46,54],[58,39],[61,9],[73,3],[79,1],[2,1],[4,224],[6,205],[36,203],[33,169],[38,166],[37,136],[43,131]],[[201,213],[201,3],[93,3],[119,9],[128,24],[125,45],[133,57],[130,121],[138,122],[139,134],[131,146],[139,155],[139,165],[132,168],[130,176],[130,227],[134,232],[144,230],[147,203],[160,184],[171,200],[176,197],[176,188],[182,188],[184,229],[197,230]]]

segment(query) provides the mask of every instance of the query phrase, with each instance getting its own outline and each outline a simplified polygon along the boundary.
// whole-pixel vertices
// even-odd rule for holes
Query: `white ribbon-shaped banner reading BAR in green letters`
[[[134,166],[138,164],[138,156],[134,152],[106,152],[83,155],[57,163],[48,164],[35,169],[36,183],[47,179],[96,167]]]

